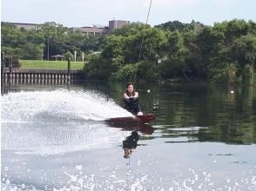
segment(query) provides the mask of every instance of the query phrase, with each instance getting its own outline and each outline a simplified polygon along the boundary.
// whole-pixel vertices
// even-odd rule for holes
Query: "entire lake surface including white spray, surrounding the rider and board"
[[[155,121],[108,124],[124,87],[3,86],[2,190],[256,190],[255,88],[136,84]]]

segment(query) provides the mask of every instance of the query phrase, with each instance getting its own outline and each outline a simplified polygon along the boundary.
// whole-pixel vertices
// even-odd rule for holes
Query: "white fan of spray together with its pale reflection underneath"
[[[39,155],[116,146],[128,132],[102,121],[131,115],[97,92],[64,89],[3,95],[1,114],[2,148]]]

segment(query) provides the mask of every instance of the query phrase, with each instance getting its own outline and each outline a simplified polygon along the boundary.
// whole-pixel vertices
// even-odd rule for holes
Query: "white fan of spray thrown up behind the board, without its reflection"
[[[91,91],[34,91],[2,96],[2,121],[33,122],[60,119],[101,121],[131,115],[112,99]]]

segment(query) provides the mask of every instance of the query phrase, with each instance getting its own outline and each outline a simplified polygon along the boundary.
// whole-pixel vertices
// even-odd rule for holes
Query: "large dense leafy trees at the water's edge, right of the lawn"
[[[105,36],[101,54],[84,65],[88,78],[253,83],[256,24],[131,23]]]

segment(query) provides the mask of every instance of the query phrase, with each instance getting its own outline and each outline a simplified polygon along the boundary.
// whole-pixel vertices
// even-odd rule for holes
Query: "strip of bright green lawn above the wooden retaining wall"
[[[68,69],[67,61],[20,60],[23,69]],[[71,69],[84,69],[84,62],[71,62]]]

